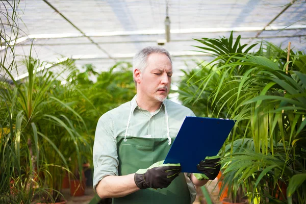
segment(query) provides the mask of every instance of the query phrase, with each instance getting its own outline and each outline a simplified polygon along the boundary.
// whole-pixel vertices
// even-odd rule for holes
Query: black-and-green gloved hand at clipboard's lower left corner
[[[164,161],[152,164],[147,169],[139,169],[134,176],[138,188],[166,188],[181,173],[180,164],[163,164]]]

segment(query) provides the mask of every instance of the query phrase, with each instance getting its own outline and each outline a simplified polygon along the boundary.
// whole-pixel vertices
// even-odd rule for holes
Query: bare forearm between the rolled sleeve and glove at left
[[[134,174],[104,177],[96,186],[98,196],[100,198],[123,197],[140,190],[135,184]]]

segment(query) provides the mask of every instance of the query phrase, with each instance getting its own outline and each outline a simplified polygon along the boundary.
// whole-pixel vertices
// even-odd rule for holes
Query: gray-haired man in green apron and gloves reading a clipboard
[[[113,203],[192,203],[194,185],[205,185],[218,174],[219,157],[200,162],[197,169],[203,174],[184,174],[180,164],[161,161],[185,117],[195,116],[166,99],[171,76],[166,49],[145,47],[134,57],[136,96],[97,124],[93,185],[99,197],[112,197]]]

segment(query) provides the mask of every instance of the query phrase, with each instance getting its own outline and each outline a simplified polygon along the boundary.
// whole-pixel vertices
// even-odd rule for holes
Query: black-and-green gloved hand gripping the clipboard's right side
[[[206,157],[205,161],[201,161],[197,165],[197,170],[202,173],[194,173],[197,180],[214,180],[220,171],[220,156]]]

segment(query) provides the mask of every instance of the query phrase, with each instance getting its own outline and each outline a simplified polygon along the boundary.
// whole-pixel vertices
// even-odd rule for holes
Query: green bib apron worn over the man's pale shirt
[[[170,149],[167,138],[117,137],[119,175],[135,173],[138,169],[164,160]],[[173,140],[174,138],[172,138]],[[190,193],[184,173],[177,176],[163,189],[148,188],[120,198],[113,198],[113,203],[175,203],[189,204]]]

